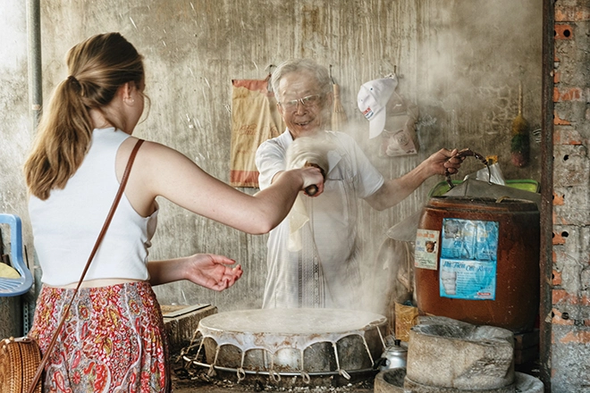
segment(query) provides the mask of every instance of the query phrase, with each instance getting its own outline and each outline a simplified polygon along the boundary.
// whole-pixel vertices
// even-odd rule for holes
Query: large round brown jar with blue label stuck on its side
[[[539,304],[539,227],[534,202],[432,197],[417,230],[418,309],[514,332],[532,330]]]

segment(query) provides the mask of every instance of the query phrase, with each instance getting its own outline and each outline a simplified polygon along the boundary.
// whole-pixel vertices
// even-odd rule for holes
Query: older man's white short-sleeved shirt
[[[303,198],[309,222],[301,228],[303,241],[315,247],[291,252],[287,247],[289,216],[268,236],[267,270],[263,307],[358,308],[360,298],[358,198],[373,195],[384,178],[349,135],[326,131],[333,150],[328,154],[324,193]],[[270,186],[274,175],[287,168],[289,130],[266,140],[257,149],[260,188]],[[303,251],[306,251],[305,253]],[[311,266],[311,268],[307,268]],[[321,267],[322,280],[315,269]],[[305,272],[314,272],[306,275]],[[316,291],[322,291],[319,299]]]

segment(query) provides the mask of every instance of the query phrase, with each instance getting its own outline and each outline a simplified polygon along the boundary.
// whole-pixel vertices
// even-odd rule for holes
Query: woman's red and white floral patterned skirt
[[[43,287],[30,337],[41,352],[73,289]],[[156,295],[147,282],[80,288],[51,357],[44,392],[169,392],[168,347]]]

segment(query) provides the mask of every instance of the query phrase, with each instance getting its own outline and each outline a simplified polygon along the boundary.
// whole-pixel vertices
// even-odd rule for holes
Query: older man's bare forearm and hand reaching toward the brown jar
[[[386,180],[375,194],[366,197],[365,200],[379,211],[399,204],[429,177],[435,174],[444,175],[445,169],[450,173],[457,173],[463,160],[453,157],[456,154],[457,149],[439,150],[400,178]]]

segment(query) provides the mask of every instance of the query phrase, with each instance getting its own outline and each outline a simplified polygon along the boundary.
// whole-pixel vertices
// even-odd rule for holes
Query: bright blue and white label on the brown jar
[[[499,222],[443,219],[441,297],[494,300]]]

